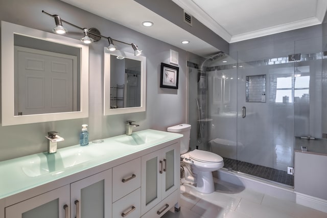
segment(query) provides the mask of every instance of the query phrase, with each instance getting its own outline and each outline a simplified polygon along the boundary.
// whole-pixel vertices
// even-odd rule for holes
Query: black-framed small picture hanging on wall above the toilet
[[[179,67],[161,63],[160,88],[178,89]]]

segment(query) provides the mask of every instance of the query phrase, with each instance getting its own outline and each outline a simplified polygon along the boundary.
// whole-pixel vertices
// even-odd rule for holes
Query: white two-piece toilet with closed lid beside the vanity
[[[191,165],[192,173],[195,175],[196,189],[203,193],[211,193],[215,191],[214,179],[212,172],[217,171],[224,166],[223,158],[212,152],[194,150],[190,148],[190,132],[191,125],[180,124],[168,127],[168,132],[183,134],[180,143],[180,154],[183,162]],[[192,176],[185,175],[185,179],[192,181]]]

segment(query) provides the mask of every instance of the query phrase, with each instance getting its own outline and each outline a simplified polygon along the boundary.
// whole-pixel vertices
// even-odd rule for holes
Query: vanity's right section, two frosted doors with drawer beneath
[[[160,217],[178,203],[179,168],[179,143],[142,156],[142,217]]]

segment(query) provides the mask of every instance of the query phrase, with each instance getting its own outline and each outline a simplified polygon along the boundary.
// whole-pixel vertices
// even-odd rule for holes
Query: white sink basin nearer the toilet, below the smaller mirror
[[[132,135],[122,135],[115,138],[115,141],[127,144],[129,146],[141,146],[146,143],[153,142],[155,140],[164,138],[164,134],[159,134],[156,132],[134,132]]]

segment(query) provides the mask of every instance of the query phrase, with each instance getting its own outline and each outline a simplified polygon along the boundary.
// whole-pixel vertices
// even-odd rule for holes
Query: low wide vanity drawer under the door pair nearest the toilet
[[[142,218],[159,218],[164,215],[170,208],[174,207],[179,200],[179,190],[171,193],[170,196],[162,200],[159,204],[154,206]],[[158,214],[159,213],[159,214]]]

